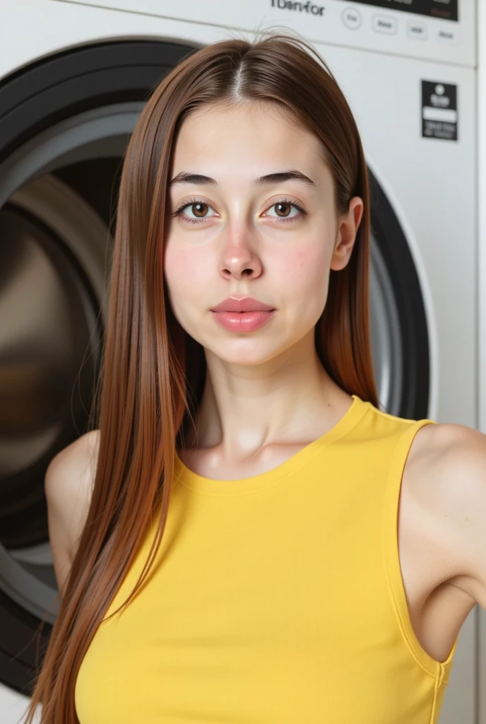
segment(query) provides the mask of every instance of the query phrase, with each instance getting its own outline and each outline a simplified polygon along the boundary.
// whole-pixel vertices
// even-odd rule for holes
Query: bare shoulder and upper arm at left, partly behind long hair
[[[46,470],[49,540],[59,589],[88,515],[98,446],[99,430],[87,432],[60,450]]]

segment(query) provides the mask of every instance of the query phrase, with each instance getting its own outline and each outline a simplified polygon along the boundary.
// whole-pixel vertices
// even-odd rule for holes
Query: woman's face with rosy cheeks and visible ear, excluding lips
[[[258,182],[289,170],[309,181]],[[169,186],[163,264],[174,316],[223,361],[269,361],[315,327],[329,270],[351,256],[362,202],[354,198],[346,216],[336,215],[319,140],[268,103],[194,111],[182,123],[169,180],[179,174],[213,181]],[[211,311],[229,296],[276,311],[255,331],[229,331]]]

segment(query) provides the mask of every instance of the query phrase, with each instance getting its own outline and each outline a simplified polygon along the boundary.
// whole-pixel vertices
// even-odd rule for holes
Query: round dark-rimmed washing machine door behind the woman
[[[26,696],[58,610],[44,474],[87,429],[121,158],[151,91],[190,51],[97,43],[0,83],[0,682]],[[430,379],[419,279],[391,204],[370,181],[380,406],[421,418]]]

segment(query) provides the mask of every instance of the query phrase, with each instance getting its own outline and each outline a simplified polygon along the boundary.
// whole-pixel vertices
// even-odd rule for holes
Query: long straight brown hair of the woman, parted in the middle
[[[39,703],[42,724],[79,722],[77,672],[159,504],[152,557],[114,613],[140,589],[160,547],[174,449],[197,410],[206,373],[203,348],[176,322],[163,284],[171,155],[191,111],[249,101],[275,102],[322,141],[339,212],[347,211],[354,195],[364,201],[349,263],[330,272],[315,345],[339,387],[378,406],[370,348],[367,167],[343,93],[297,33],[270,30],[253,42],[230,38],[192,51],[153,91],[124,158],[103,367],[92,411],[92,426],[96,416],[100,429],[94,489],[25,724],[32,723]]]

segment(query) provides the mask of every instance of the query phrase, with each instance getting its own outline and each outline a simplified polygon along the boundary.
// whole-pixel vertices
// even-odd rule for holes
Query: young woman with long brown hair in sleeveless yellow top
[[[155,89],[124,159],[98,427],[46,474],[62,600],[30,717],[438,721],[486,606],[486,441],[378,409],[369,227],[312,46],[214,43]]]

